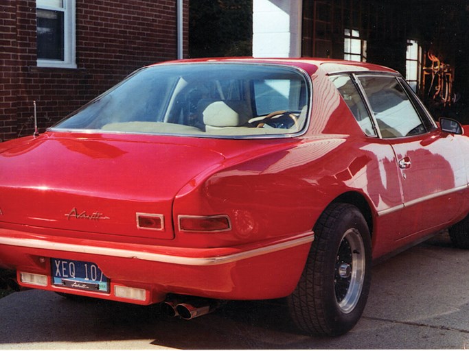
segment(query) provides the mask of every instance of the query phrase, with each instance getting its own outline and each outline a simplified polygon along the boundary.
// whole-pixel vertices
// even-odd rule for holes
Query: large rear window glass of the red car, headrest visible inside
[[[140,69],[54,126],[194,136],[294,134],[309,85],[284,66],[165,64]]]

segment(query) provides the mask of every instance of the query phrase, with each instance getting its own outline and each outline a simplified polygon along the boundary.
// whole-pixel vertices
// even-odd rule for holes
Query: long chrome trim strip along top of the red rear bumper
[[[135,250],[122,250],[112,249],[109,247],[98,247],[98,246],[84,246],[67,243],[54,243],[52,241],[43,241],[37,239],[19,239],[0,237],[1,245],[11,245],[19,247],[30,247],[34,249],[43,250],[56,250],[65,252],[78,252],[80,254],[95,254],[102,256],[113,256],[119,258],[137,258],[142,261],[151,261],[159,263],[171,263],[174,265],[190,265],[190,266],[212,266],[212,265],[224,265],[226,263],[233,263],[247,258],[255,256],[261,256],[264,254],[271,254],[273,252],[282,251],[291,247],[304,245],[311,243],[314,240],[313,232],[304,233],[305,236],[299,239],[293,239],[284,243],[277,243],[268,245],[266,247],[259,247],[257,249],[247,250],[244,252],[238,252],[236,254],[228,254],[225,256],[213,256],[213,257],[183,257],[173,256],[169,254],[154,254],[151,252],[141,252]]]

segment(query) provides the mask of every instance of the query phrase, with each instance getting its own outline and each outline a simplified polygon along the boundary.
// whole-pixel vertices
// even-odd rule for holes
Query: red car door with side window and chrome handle
[[[396,239],[426,234],[459,215],[467,187],[458,136],[439,130],[402,78],[358,75],[380,137],[400,170],[403,207]]]

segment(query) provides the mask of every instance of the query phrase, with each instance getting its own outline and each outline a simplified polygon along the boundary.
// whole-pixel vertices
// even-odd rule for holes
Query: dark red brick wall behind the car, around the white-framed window
[[[2,4],[0,139],[34,132],[34,100],[42,132],[135,69],[176,59],[176,11],[175,0],[76,0],[78,68],[54,69],[36,65],[36,1]]]

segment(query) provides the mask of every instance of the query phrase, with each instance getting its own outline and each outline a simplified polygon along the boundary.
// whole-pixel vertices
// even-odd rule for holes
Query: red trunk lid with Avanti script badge
[[[184,139],[45,134],[16,141],[0,153],[0,222],[172,239],[175,195],[225,159]]]

